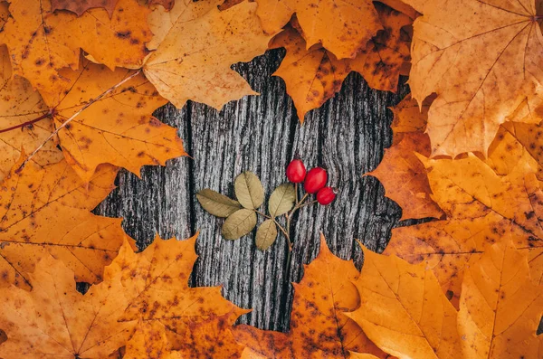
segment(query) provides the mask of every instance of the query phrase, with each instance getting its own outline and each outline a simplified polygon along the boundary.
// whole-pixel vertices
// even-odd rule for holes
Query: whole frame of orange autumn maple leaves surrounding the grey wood
[[[539,7],[0,3],[0,357],[541,357]],[[230,67],[277,47],[300,120],[350,71],[393,91],[409,74],[413,99],[393,109],[393,146],[369,175],[404,219],[434,218],[395,229],[385,255],[365,250],[361,272],[322,238],[287,334],[233,326],[246,310],[220,288],[188,288],[195,238],[136,253],[119,219],[90,213],[119,167],[185,155],[155,109],[254,94]],[[82,295],[76,281],[93,285]]]

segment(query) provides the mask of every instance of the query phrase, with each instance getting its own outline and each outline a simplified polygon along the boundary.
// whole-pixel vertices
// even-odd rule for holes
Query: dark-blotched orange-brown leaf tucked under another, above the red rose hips
[[[319,108],[341,90],[350,71],[360,73],[376,90],[397,90],[400,71],[409,61],[410,37],[404,28],[413,20],[379,3],[376,11],[385,28],[355,59],[338,60],[320,44],[308,47],[300,33],[290,26],[272,40],[270,48],[284,47],[287,51],[273,75],[285,81],[300,122],[308,111]]]

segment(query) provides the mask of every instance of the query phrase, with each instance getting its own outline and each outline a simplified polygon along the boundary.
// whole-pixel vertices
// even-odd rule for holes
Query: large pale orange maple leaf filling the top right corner
[[[409,85],[428,113],[433,156],[484,155],[500,124],[519,107],[543,118],[538,9],[534,0],[405,0],[424,14],[414,22]]]

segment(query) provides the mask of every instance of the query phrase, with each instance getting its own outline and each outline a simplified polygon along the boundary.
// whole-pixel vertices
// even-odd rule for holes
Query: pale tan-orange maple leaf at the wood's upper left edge
[[[169,33],[143,68],[149,81],[179,109],[188,99],[221,109],[228,101],[256,95],[230,68],[268,48],[271,36],[262,32],[255,8],[246,1],[186,22],[180,16],[173,26],[166,23]]]

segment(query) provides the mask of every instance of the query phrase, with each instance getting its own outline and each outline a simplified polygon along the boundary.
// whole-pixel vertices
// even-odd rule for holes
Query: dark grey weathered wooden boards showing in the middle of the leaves
[[[371,250],[383,250],[390,229],[400,218],[399,207],[384,197],[381,184],[362,174],[379,164],[390,146],[389,128],[398,95],[371,90],[351,74],[338,96],[310,112],[300,126],[284,82],[271,73],[283,52],[273,51],[234,68],[261,96],[232,102],[216,111],[188,103],[177,110],[168,105],[157,118],[179,128],[186,151],[194,157],[170,161],[167,167],[147,167],[141,179],[119,175],[119,188],[96,210],[124,217],[124,228],[143,249],[157,232],[162,237],[186,238],[200,231],[193,286],[224,286],[224,297],[253,308],[240,319],[265,329],[285,331],[289,326],[292,288],[299,281],[302,263],[319,251],[319,231],[329,247],[343,259],[361,263],[356,239]],[[406,87],[402,94],[405,95]],[[308,166],[329,170],[329,184],[340,189],[328,207],[302,209],[293,222],[294,250],[286,273],[285,239],[266,251],[256,250],[254,231],[241,240],[221,237],[223,219],[200,207],[195,193],[211,188],[233,194],[233,178],[249,170],[258,175],[267,194],[286,181],[284,170],[298,152]],[[260,219],[262,221],[262,219]]]

